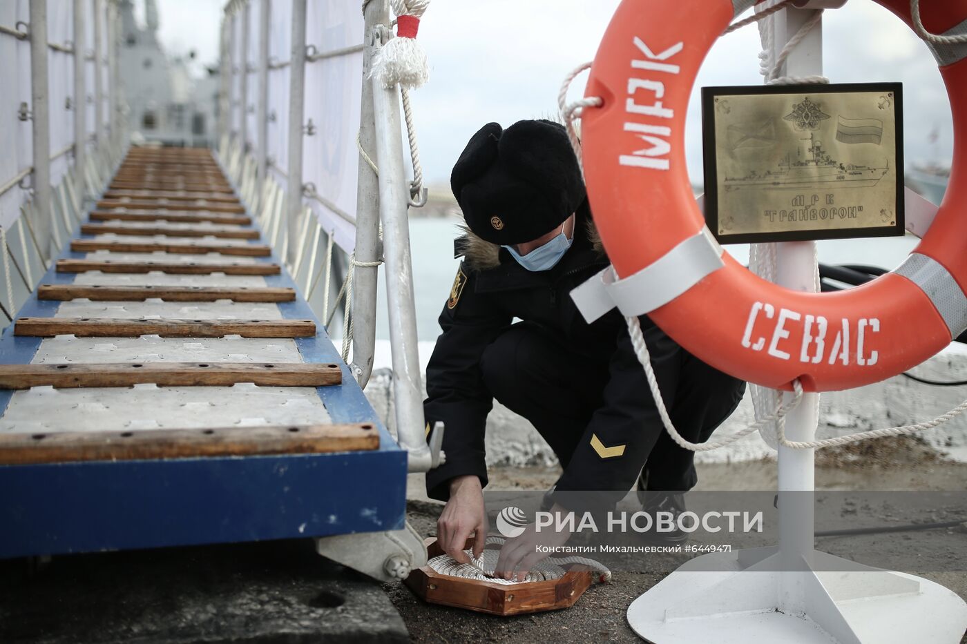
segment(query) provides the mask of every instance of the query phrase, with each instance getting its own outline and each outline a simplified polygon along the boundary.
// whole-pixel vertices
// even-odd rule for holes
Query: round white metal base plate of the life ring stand
[[[958,644],[967,628],[967,604],[932,581],[886,571],[743,570],[740,557],[749,552],[757,558],[753,551],[709,554],[672,572],[631,602],[631,629],[653,644]],[[826,569],[837,559],[815,554]],[[805,615],[778,611],[780,574],[821,581],[806,583],[807,612],[838,636]]]

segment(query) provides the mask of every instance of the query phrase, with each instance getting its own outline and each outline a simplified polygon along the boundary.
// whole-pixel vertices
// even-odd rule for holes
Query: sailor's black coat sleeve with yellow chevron
[[[647,317],[641,318],[641,326],[659,389],[670,407],[684,349]],[[603,404],[592,415],[554,491],[554,500],[574,512],[606,512],[620,501],[664,431],[627,329],[618,335],[608,369]]]

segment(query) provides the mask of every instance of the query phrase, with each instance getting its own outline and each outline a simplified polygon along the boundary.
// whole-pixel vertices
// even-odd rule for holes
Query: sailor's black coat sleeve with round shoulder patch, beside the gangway
[[[426,493],[440,501],[449,499],[454,477],[472,474],[482,485],[487,483],[484,430],[493,396],[484,385],[481,357],[513,318],[495,306],[491,296],[476,293],[475,286],[476,272],[462,263],[440,313],[443,334],[426,366],[427,429],[438,421],[446,425],[446,462],[426,473]]]

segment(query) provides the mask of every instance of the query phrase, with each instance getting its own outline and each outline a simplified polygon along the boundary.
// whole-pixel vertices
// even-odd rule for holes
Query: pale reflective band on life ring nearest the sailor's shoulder
[[[615,279],[614,270],[608,266],[573,289],[571,300],[589,324],[614,307],[624,315],[644,315],[668,304],[724,265],[722,248],[703,226],[697,235],[627,278]]]

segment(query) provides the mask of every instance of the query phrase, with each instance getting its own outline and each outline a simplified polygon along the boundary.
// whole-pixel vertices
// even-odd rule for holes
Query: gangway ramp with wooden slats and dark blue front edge
[[[208,150],[133,148],[0,338],[0,557],[402,529],[407,458]]]

